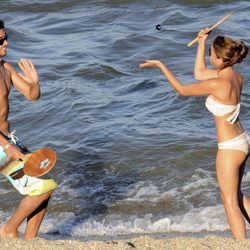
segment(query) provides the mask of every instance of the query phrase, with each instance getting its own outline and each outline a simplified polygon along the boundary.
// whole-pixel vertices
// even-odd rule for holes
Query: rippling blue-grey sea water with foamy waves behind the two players
[[[42,95],[10,94],[10,124],[35,150],[52,147],[59,187],[41,233],[60,237],[223,231],[228,229],[215,173],[216,131],[205,97],[181,97],[158,69],[162,60],[184,84],[195,82],[201,28],[250,44],[249,1],[3,0],[6,60],[29,58]],[[157,30],[156,25],[162,29]],[[208,48],[207,48],[208,50]],[[209,63],[209,62],[208,62]],[[249,57],[241,121],[250,129]],[[242,188],[250,195],[249,163]],[[2,176],[0,219],[20,196]],[[22,229],[23,230],[23,229]]]

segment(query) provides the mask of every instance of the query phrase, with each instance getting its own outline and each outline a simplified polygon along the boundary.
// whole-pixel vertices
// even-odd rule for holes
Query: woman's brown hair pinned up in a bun
[[[241,63],[247,56],[248,47],[242,41],[234,41],[229,37],[218,36],[213,42],[215,54],[223,60],[220,69]]]

